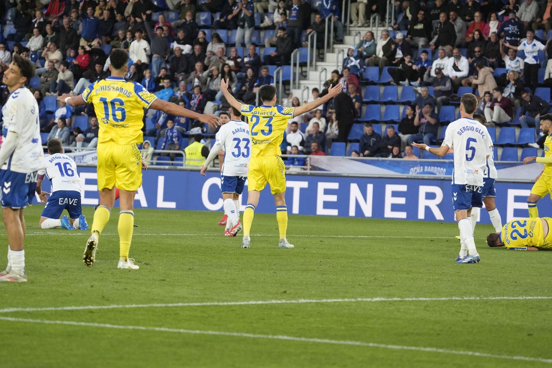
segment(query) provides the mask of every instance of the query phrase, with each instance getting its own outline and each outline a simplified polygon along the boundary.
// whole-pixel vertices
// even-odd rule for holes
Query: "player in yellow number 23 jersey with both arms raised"
[[[261,190],[270,185],[276,204],[276,219],[280,233],[279,248],[293,248],[285,237],[288,228],[288,210],[285,206],[285,165],[280,158],[280,143],[284,131],[288,127],[288,119],[316,109],[335,97],[343,86],[330,86],[328,94],[315,101],[296,108],[283,108],[276,104],[276,88],[265,84],[259,94],[263,104],[253,106],[241,104],[228,92],[228,81],[222,79],[220,89],[230,105],[249,118],[251,136],[251,159],[249,163],[247,206],[243,211],[243,241],[242,248],[250,247],[250,231],[253,222],[255,206],[259,202]]]

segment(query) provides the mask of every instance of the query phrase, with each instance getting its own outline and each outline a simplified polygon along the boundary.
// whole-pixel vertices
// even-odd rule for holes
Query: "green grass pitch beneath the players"
[[[130,271],[118,209],[92,268],[88,232],[40,230],[40,211],[25,211],[29,282],[0,284],[2,367],[552,366],[552,253],[490,249],[489,225],[481,263],[456,264],[454,223],[290,216],[295,249],[278,249],[275,216],[256,214],[264,236],[241,249],[221,212],[136,210]]]

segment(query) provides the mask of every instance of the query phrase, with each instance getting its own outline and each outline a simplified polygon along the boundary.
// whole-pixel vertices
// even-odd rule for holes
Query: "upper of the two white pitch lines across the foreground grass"
[[[198,303],[156,303],[156,304],[128,304],[105,306],[66,306],[44,308],[4,308],[0,313],[10,312],[43,312],[43,311],[82,311],[116,308],[155,308],[155,307],[204,307],[204,306],[242,306],[242,305],[269,305],[269,304],[304,304],[304,303],[343,303],[343,302],[397,302],[397,301],[473,301],[473,300],[550,300],[552,296],[469,296],[469,297],[442,297],[442,298],[341,298],[341,299],[298,299],[298,300],[251,300],[237,302],[198,302]]]

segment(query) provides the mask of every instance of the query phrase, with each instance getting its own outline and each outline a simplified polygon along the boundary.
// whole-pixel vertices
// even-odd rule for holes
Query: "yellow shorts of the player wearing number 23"
[[[270,185],[272,194],[285,191],[285,165],[280,156],[251,157],[247,174],[248,190],[261,191]]]

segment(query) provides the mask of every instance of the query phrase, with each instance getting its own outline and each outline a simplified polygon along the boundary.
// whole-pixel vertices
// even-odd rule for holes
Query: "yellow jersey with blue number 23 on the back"
[[[280,145],[288,127],[288,119],[293,118],[294,110],[295,108],[284,108],[280,105],[241,106],[241,114],[249,118],[251,157],[282,154]]]

